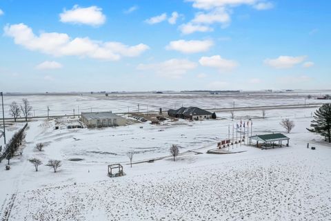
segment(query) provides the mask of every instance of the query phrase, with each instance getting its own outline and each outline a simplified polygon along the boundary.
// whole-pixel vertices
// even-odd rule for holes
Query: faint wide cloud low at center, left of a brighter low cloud
[[[157,64],[139,64],[138,70],[152,70],[161,77],[181,78],[189,70],[197,68],[197,64],[188,59],[170,59]]]

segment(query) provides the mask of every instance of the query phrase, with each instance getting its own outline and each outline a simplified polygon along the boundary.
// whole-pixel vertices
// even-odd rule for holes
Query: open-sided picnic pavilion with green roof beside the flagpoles
[[[250,145],[252,143],[252,140],[255,140],[257,142],[257,147],[261,148],[267,148],[267,147],[272,147],[274,146],[282,146],[282,142],[287,141],[286,146],[288,146],[290,138],[286,137],[282,133],[270,133],[270,134],[264,134],[264,135],[255,135],[248,137],[250,140]],[[277,144],[278,142],[278,144]]]

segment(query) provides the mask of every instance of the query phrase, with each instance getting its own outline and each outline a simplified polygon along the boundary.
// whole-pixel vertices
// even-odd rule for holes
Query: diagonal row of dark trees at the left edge
[[[26,126],[28,126],[28,124],[26,124]],[[9,165],[10,159],[14,157],[14,153],[19,150],[19,146],[22,144],[24,138],[26,137],[26,133],[24,133],[26,126],[21,128],[21,130],[19,130],[17,133],[14,133],[8,144],[5,146],[5,149],[3,151],[0,150],[0,162],[6,158]]]

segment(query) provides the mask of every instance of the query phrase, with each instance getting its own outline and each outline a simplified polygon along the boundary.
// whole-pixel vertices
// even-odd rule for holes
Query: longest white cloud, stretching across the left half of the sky
[[[72,55],[116,61],[121,57],[136,57],[149,49],[145,44],[126,46],[115,41],[93,41],[88,37],[72,39],[67,34],[57,32],[43,32],[36,36],[23,23],[7,25],[4,32],[14,39],[15,44],[57,57]]]

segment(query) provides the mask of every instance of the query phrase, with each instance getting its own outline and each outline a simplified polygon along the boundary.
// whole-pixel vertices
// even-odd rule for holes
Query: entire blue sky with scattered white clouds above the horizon
[[[330,6],[0,0],[0,88],[330,89]]]

